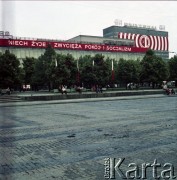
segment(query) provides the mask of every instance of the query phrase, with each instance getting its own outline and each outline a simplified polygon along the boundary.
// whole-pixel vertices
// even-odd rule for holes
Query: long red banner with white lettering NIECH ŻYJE
[[[46,48],[50,44],[54,49],[78,50],[78,51],[108,51],[108,52],[129,52],[145,53],[147,48],[129,46],[110,46],[100,44],[80,44],[68,42],[49,42],[40,40],[21,40],[21,39],[0,39],[1,47],[22,47],[22,48]]]

